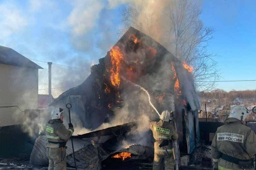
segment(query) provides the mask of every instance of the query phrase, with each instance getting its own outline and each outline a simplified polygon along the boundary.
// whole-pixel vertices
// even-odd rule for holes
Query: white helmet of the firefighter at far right
[[[250,111],[245,106],[234,105],[231,107],[229,118],[236,118],[238,120],[244,121],[249,114]]]

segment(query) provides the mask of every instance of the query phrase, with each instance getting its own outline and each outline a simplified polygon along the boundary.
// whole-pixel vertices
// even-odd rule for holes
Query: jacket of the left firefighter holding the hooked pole
[[[72,136],[74,129],[66,127],[62,124],[63,121],[60,119],[51,119],[46,125],[46,137],[48,141],[52,142],[67,142],[68,139]],[[56,147],[59,144],[49,143],[46,147]]]

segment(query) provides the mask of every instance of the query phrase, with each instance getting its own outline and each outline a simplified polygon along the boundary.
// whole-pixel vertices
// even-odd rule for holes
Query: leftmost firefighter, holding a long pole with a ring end
[[[51,111],[52,119],[48,121],[46,126],[46,153],[49,159],[48,170],[64,170],[66,169],[66,143],[72,136],[74,129],[72,123],[69,123],[69,128],[63,123],[63,109],[54,108]]]

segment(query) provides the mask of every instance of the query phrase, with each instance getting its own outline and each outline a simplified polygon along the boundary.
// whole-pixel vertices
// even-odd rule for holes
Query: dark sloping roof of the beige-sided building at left
[[[11,48],[4,47],[0,45],[0,63],[8,65],[16,65],[27,68],[43,69],[39,65],[35,64],[33,61],[24,57],[17,51]]]

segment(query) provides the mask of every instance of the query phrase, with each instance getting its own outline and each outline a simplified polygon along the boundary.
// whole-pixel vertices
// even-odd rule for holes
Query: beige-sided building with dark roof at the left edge
[[[0,126],[22,124],[25,109],[37,109],[38,69],[42,67],[0,46]]]

